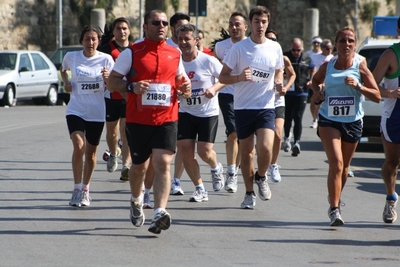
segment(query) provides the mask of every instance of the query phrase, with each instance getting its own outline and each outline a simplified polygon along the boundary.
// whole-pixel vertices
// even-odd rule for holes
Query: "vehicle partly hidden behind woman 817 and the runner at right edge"
[[[398,39],[374,39],[367,38],[361,43],[357,52],[364,56],[367,60],[367,66],[371,72],[375,69],[376,64],[382,53],[392,44],[398,43]],[[382,85],[382,84],[381,84]],[[363,124],[363,136],[381,136],[380,134],[380,122],[382,115],[382,107],[384,98],[379,103],[374,103],[369,99],[365,98],[363,102],[364,109],[364,124]]]

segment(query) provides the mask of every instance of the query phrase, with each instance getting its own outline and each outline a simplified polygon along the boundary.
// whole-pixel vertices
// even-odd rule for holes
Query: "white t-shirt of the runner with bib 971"
[[[183,66],[192,83],[192,96],[180,97],[179,112],[202,118],[218,116],[218,93],[207,98],[204,92],[218,81],[222,64],[215,57],[198,51],[197,57],[190,62],[183,61]]]

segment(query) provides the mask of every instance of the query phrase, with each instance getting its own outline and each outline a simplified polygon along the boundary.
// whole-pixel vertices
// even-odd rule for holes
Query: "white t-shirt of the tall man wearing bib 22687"
[[[265,39],[262,44],[251,38],[232,46],[224,58],[232,73],[242,73],[250,67],[252,81],[235,84],[234,109],[275,108],[275,71],[283,68],[283,53],[278,42]]]

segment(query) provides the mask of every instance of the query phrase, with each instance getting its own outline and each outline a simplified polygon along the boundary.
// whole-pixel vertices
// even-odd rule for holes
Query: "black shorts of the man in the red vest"
[[[155,148],[176,150],[177,121],[156,126],[130,122],[126,123],[125,131],[133,164],[145,162]]]

